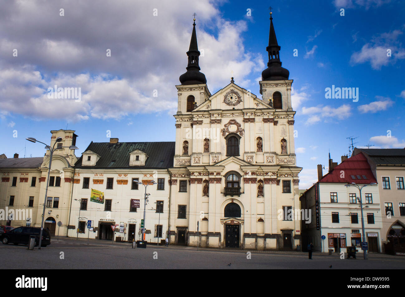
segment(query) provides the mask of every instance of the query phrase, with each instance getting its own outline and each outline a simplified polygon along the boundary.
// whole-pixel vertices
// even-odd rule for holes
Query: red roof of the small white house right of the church
[[[352,178],[352,175],[355,178]],[[361,178],[359,179],[357,175]],[[364,179],[363,175],[365,175],[366,179]],[[324,175],[319,182],[337,182],[346,184],[352,182],[356,184],[377,183],[373,172],[370,169],[370,165],[367,162],[367,158],[362,153],[341,162],[331,172]]]

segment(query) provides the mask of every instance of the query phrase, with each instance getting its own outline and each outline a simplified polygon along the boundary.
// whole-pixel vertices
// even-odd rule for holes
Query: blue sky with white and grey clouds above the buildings
[[[66,126],[79,135],[77,156],[90,141],[108,141],[107,130],[120,141],[174,141],[175,85],[187,66],[194,12],[211,94],[233,71],[235,83],[260,97],[269,5],[294,79],[300,188],[315,182],[317,164],[327,169],[329,150],[334,161],[348,154],[346,137],[358,137],[357,147],[405,147],[403,1],[143,2],[0,4],[0,154],[42,156],[43,147],[25,138],[49,142],[50,130]],[[55,84],[81,87],[81,102],[48,99]],[[358,88],[358,102],[326,99],[332,85]]]

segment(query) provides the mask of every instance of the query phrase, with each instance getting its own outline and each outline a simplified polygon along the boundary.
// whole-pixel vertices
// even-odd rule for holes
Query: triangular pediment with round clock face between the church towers
[[[200,104],[193,112],[207,110],[273,109],[255,94],[235,83],[230,83]]]

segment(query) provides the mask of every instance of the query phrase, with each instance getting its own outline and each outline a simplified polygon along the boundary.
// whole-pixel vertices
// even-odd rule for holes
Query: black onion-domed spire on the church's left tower
[[[193,32],[191,34],[190,48],[187,52],[188,65],[186,67],[187,71],[180,75],[179,80],[182,85],[196,85],[205,84],[207,79],[204,73],[200,72],[200,66],[198,65],[198,57],[200,56],[200,51],[198,51],[197,45],[197,34],[196,34],[196,22],[194,19]]]

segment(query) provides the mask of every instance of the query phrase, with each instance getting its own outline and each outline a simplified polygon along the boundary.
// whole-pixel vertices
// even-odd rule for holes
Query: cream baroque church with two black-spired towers
[[[298,173],[289,71],[270,17],[262,98],[234,83],[211,94],[200,72],[194,19],[187,71],[176,85],[178,109],[171,242],[190,246],[293,249],[300,244]],[[180,183],[180,184],[179,184]],[[181,185],[183,183],[183,185]],[[189,184],[187,192],[182,191]],[[185,212],[187,219],[179,218]],[[175,228],[173,228],[175,227]],[[173,230],[174,229],[174,230]],[[183,240],[183,239],[181,239]]]

